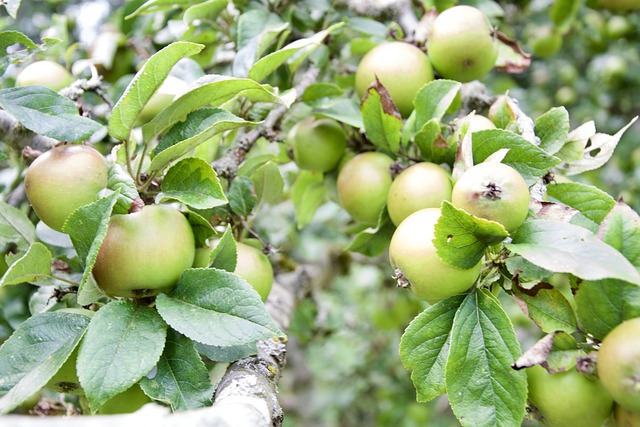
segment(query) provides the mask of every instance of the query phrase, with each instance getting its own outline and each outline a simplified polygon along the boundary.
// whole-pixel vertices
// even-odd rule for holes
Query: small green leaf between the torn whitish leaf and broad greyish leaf
[[[549,184],[547,194],[555,200],[582,212],[600,224],[616,205],[616,201],[597,187],[579,182]]]

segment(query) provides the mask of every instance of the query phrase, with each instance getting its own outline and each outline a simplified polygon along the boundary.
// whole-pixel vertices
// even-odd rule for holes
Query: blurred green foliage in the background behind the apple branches
[[[207,45],[195,57],[195,65],[180,70],[183,77],[238,72],[242,63],[234,61],[233,42],[239,37],[239,16],[250,24],[252,10],[258,14],[270,11],[274,27],[278,22],[291,23],[267,48],[271,50],[282,45],[285,37],[309,35],[351,18],[353,24],[311,58],[321,67],[319,80],[346,90],[352,89],[355,67],[369,48],[385,38],[402,37],[402,28],[388,15],[366,16],[368,10],[375,9],[373,1],[240,0],[233,2],[235,8],[227,8],[225,1],[219,2],[222,7],[213,19],[197,11],[186,19],[179,7],[125,19],[143,3],[23,0],[16,21],[0,14],[0,31],[19,29],[36,43],[43,43],[46,37],[61,40],[36,50],[33,58],[52,59],[83,77],[87,77],[83,61],[92,60],[104,76],[112,100],[151,53],[174,40]],[[415,1],[412,7],[420,18],[432,6],[441,9],[455,3],[424,0]],[[572,128],[594,120],[598,131],[609,134],[640,113],[640,12],[615,14],[595,0],[460,3],[483,9],[501,32],[532,53],[532,64],[522,73],[490,73],[483,81],[490,93],[508,92],[533,118],[563,105],[570,113]],[[571,18],[558,19],[554,3],[573,8]],[[29,57],[23,59],[28,61]],[[7,70],[1,87],[13,86],[20,67],[18,63]],[[286,89],[294,84],[294,78],[282,70],[268,83]],[[96,104],[94,117],[106,116],[107,111],[97,106],[98,100],[90,99],[89,103],[92,101]],[[260,118],[266,112],[257,109],[251,114]],[[294,109],[283,131],[305,114],[308,110],[303,107]],[[7,154],[9,160],[0,160],[3,196],[16,179],[15,168],[10,167],[15,165],[15,154]],[[640,210],[640,126],[627,131],[612,161],[579,179],[614,198],[624,198]],[[396,289],[385,256],[367,259],[344,252],[351,239],[349,220],[337,204],[329,202],[321,207],[303,230],[295,226],[290,202],[263,210],[254,221],[256,230],[292,262],[323,267],[322,280],[298,307],[290,330],[288,365],[280,387],[285,425],[457,425],[446,399],[416,403],[409,372],[398,357],[404,328],[424,306]],[[29,316],[31,292],[29,287],[0,289],[0,340]],[[503,303],[518,326],[523,348],[527,348],[535,341],[532,334],[536,332],[513,303]]]

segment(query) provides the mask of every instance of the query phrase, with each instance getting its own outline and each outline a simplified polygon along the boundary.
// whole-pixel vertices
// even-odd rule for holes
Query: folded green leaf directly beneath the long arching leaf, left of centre
[[[171,131],[167,133],[166,137],[160,140],[160,144],[156,149],[155,157],[149,166],[150,171],[159,171],[164,169],[171,162],[179,159],[185,154],[188,154],[198,145],[209,141],[211,138],[222,132],[257,124],[255,122],[248,122],[221,109],[215,109],[213,112],[211,109],[207,109],[206,112],[208,113],[208,117],[205,120],[199,120],[202,116],[202,110],[193,112],[189,117],[187,117],[187,121],[173,127]],[[192,117],[192,115],[194,116]],[[196,128],[198,133],[190,136],[189,131],[193,131],[193,129],[186,129],[186,127],[191,124],[189,118],[192,120],[195,119],[199,124],[206,127],[202,130],[200,130],[200,128]],[[174,131],[174,129],[177,130]]]

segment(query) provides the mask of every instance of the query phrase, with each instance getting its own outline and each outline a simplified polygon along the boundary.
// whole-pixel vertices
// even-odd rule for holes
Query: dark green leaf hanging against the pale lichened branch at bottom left
[[[172,411],[211,406],[214,387],[193,341],[169,329],[156,369],[143,377],[140,387],[154,400],[168,403]]]

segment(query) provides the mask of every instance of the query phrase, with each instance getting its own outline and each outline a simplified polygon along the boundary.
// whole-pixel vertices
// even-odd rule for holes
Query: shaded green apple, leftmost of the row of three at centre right
[[[383,153],[360,153],[338,174],[338,201],[354,220],[375,226],[387,202],[393,160]]]

